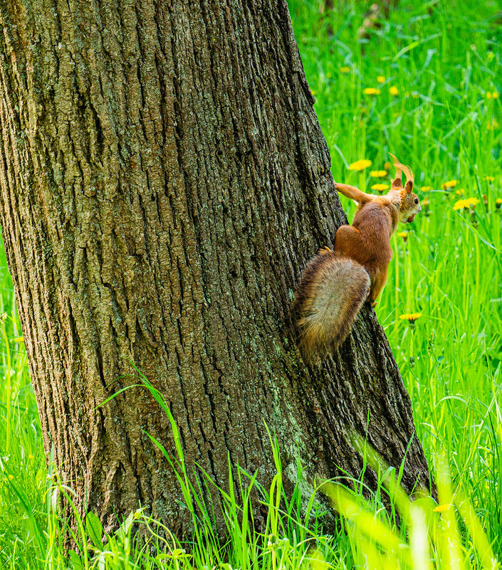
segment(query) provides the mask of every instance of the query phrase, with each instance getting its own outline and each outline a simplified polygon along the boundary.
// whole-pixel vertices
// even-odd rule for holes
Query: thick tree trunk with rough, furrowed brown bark
[[[353,429],[428,485],[409,396],[365,308],[306,367],[291,299],[345,222],[284,0],[1,0],[1,223],[46,451],[105,524],[140,500],[183,532],[145,435],[231,463],[357,475]],[[375,483],[367,473],[370,485]]]

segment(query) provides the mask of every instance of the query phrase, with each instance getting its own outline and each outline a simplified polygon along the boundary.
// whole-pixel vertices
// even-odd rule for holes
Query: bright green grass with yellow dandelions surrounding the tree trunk
[[[340,4],[321,13],[318,0],[289,1],[335,180],[377,193],[393,174],[385,164],[389,152],[414,171],[422,213],[392,238],[377,315],[412,398],[439,507],[427,497],[410,504],[382,468],[382,488],[370,505],[327,488],[344,516],[334,534],[323,534],[312,502],[300,512],[300,485],[286,510],[279,507],[281,463],[271,445],[278,476],[261,490],[266,532],[245,524],[246,484],[240,503],[228,489],[222,493],[228,544],[214,536],[210,510],[197,519],[188,544],[161,538],[169,533],[138,510],[105,543],[95,518],[81,521],[80,554],[66,558],[65,522],[53,504],[56,492],[71,497],[71,491],[58,488],[45,467],[2,252],[0,570],[501,567],[495,559],[502,561],[502,11],[495,0],[401,0],[359,41],[369,3]],[[362,160],[371,164],[350,169]],[[344,198],[342,204],[351,219],[353,204]],[[370,450],[368,461],[377,461]],[[182,455],[177,469],[189,504]],[[382,509],[386,493],[400,529]],[[135,537],[137,527],[150,537],[148,547]]]

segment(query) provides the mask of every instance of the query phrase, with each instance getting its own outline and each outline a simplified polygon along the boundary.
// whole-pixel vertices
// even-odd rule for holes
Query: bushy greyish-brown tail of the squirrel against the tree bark
[[[310,361],[340,346],[365,302],[370,275],[356,261],[321,250],[308,263],[296,288],[298,348]]]

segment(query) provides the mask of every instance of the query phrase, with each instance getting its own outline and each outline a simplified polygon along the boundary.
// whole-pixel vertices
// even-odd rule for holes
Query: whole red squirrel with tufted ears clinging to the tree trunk
[[[319,250],[296,288],[298,348],[305,360],[323,357],[347,338],[362,303],[375,307],[392,258],[390,237],[397,223],[422,211],[413,194],[413,172],[393,154],[396,176],[385,196],[365,194],[348,184],[335,189],[358,206],[352,226],[340,226],[333,250]],[[402,172],[407,177],[402,183]]]

